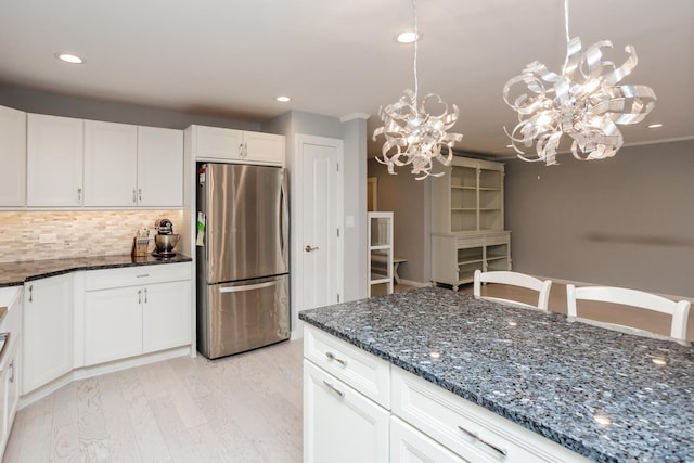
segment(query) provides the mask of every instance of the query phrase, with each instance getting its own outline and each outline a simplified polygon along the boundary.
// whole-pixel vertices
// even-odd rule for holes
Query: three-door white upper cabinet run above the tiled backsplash
[[[4,129],[3,116],[4,112],[0,112],[0,134]],[[26,117],[27,206],[183,206],[182,130],[39,114]],[[16,137],[14,131],[12,134]],[[3,137],[0,146],[4,143],[10,142]],[[13,171],[11,162],[17,163],[14,158],[2,158],[5,152],[0,153],[2,176]],[[18,167],[24,168],[23,159]],[[12,177],[12,181],[17,182],[17,178],[24,176]],[[22,197],[16,204],[4,201],[3,187],[8,191],[21,190]],[[23,202],[23,183],[15,187],[2,182],[0,207],[22,206],[17,201]]]

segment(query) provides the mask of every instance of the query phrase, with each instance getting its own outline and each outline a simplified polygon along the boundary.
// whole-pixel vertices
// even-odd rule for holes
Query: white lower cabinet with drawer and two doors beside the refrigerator
[[[190,263],[95,270],[85,287],[85,365],[191,343]]]

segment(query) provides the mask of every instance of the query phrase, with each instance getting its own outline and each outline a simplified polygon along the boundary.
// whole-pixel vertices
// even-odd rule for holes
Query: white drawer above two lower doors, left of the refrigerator
[[[90,270],[85,273],[85,291],[190,279],[190,262]]]

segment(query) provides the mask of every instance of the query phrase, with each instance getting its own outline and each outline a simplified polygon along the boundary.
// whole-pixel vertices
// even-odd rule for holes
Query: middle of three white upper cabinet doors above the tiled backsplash
[[[85,206],[137,204],[138,128],[85,121]]]

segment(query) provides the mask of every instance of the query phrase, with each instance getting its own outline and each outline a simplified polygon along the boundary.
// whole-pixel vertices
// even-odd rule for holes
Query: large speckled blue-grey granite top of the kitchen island
[[[689,346],[436,287],[299,319],[591,460],[694,462]]]

